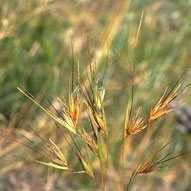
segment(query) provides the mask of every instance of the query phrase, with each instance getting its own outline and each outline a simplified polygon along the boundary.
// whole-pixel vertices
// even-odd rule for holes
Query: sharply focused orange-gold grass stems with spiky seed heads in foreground
[[[159,147],[154,153],[150,153],[150,156],[143,160],[143,153],[145,146],[150,137],[150,129],[152,124],[160,117],[174,111],[176,108],[172,108],[170,103],[180,93],[188,87],[181,89],[180,79],[175,83],[174,87],[166,89],[161,98],[157,103],[150,109],[148,118],[141,116],[141,110],[134,111],[134,75],[135,75],[135,62],[136,62],[136,49],[138,45],[138,38],[143,20],[143,14],[140,19],[140,23],[137,29],[137,34],[134,43],[134,59],[130,63],[131,74],[132,74],[132,86],[127,101],[126,112],[124,113],[124,126],[121,128],[123,132],[122,145],[121,145],[121,191],[130,190],[133,185],[133,180],[139,174],[148,174],[151,172],[158,171],[165,167],[167,162],[182,156],[186,153],[172,155],[172,153],[163,153],[165,148],[170,142],[165,143]],[[96,72],[96,64],[91,61],[90,49],[88,45],[89,53],[89,67],[86,71],[86,80],[81,80],[80,74],[80,62],[71,63],[72,72],[71,80],[69,80],[69,100],[68,102],[63,98],[58,98],[61,109],[56,109],[54,106],[55,113],[49,111],[43,107],[28,91],[18,88],[18,90],[39,106],[45,113],[47,113],[56,123],[59,129],[65,129],[63,136],[69,146],[72,148],[76,157],[81,164],[81,170],[73,169],[67,161],[67,157],[61,151],[61,148],[56,143],[49,139],[44,140],[36,131],[32,131],[42,140],[44,146],[41,148],[40,153],[45,157],[46,161],[35,160],[36,162],[61,170],[67,170],[71,173],[84,173],[92,178],[92,181],[96,181],[94,169],[90,160],[89,155],[94,155],[99,161],[100,174],[101,174],[101,190],[104,191],[107,185],[107,170],[109,168],[109,152],[110,152],[110,133],[108,131],[108,121],[104,110],[104,96],[106,93],[106,87],[104,87],[104,76],[107,68],[105,65],[105,71],[102,77]],[[81,113],[85,112],[86,117],[89,120],[89,128],[85,129],[80,123]],[[140,151],[137,151],[137,159],[135,160],[134,166],[132,166],[132,173],[128,180],[125,180],[125,166],[127,161],[125,160],[126,142],[128,137],[136,136],[141,131],[146,131],[145,137],[143,138],[142,145],[140,145]],[[68,136],[65,135],[67,132]],[[70,139],[70,140],[69,140]],[[78,146],[77,140],[81,139],[85,152]],[[31,140],[29,140],[31,141]],[[71,144],[72,141],[72,144]]]

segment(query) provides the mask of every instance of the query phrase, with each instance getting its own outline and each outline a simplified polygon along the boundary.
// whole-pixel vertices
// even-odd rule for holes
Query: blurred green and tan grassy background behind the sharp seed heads
[[[190,67],[190,9],[190,0],[1,0],[0,190],[99,190],[99,185],[84,175],[73,176],[34,163],[32,158],[38,158],[37,153],[6,138],[25,142],[24,134],[35,140],[36,148],[40,143],[27,129],[32,127],[44,137],[58,139],[59,136],[60,144],[67,147],[54,123],[16,87],[26,88],[46,107],[49,103],[45,98],[54,103],[57,96],[67,96],[71,39],[75,60],[80,60],[83,71],[88,63],[87,36],[98,71],[103,71],[109,54],[105,107],[112,140],[109,173],[116,182],[112,178],[108,180],[111,181],[108,190],[116,190],[120,172],[117,154],[121,134],[118,132],[122,128],[131,84],[128,57],[133,58],[141,12],[144,10],[145,15],[136,56],[135,101],[137,106],[143,107],[143,114],[148,115],[164,89],[173,86]],[[184,76],[184,85],[191,81],[189,76],[190,72]],[[190,105],[189,92],[187,90],[179,101]],[[155,126],[162,126],[163,134],[153,130],[152,141],[155,143],[156,137],[163,137],[164,132],[170,133],[171,150],[189,150],[190,136],[175,130],[174,123],[173,115],[159,120]],[[136,157],[134,150],[140,137],[128,142],[127,171]],[[72,156],[69,158],[72,160]],[[185,156],[172,162],[166,170],[140,176],[133,190],[190,191],[190,178],[190,157]]]

